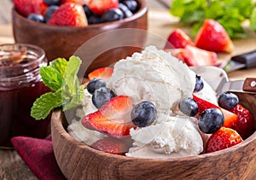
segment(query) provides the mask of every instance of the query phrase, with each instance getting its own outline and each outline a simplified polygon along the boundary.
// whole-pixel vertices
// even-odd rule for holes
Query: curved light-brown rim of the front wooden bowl
[[[64,118],[65,115],[63,112],[55,111],[52,113],[52,118],[51,118],[51,126],[52,126],[52,131],[55,130],[57,133],[60,134],[64,139],[67,140],[69,143],[73,143],[74,145],[77,146],[77,148],[82,148],[84,150],[90,151],[93,154],[96,154],[98,156],[104,156],[105,158],[108,157],[110,159],[119,159],[119,160],[136,160],[136,161],[147,161],[147,162],[173,162],[173,161],[180,161],[180,162],[185,162],[185,161],[191,161],[191,160],[198,160],[200,158],[214,158],[217,157],[221,154],[226,154],[226,153],[235,153],[237,150],[246,147],[249,143],[256,141],[256,131],[254,131],[253,135],[247,137],[246,140],[243,142],[230,147],[230,148],[225,148],[223,150],[219,150],[213,153],[208,153],[208,154],[198,154],[198,155],[193,155],[193,156],[188,156],[188,157],[180,157],[180,158],[168,158],[168,159],[160,159],[160,158],[155,158],[155,159],[148,159],[148,158],[137,158],[137,157],[128,157],[125,155],[116,155],[116,154],[108,154],[104,153],[100,150],[97,150],[95,148],[90,148],[90,146],[86,145],[84,142],[79,142],[76,139],[73,138],[73,136],[70,136],[67,131],[64,129],[62,125],[61,118]]]

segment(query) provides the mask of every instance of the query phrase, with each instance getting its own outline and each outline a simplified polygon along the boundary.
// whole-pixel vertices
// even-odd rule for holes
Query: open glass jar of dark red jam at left
[[[12,148],[13,136],[44,138],[49,121],[30,115],[33,102],[49,91],[39,75],[47,65],[44,50],[31,44],[0,45],[0,148]]]

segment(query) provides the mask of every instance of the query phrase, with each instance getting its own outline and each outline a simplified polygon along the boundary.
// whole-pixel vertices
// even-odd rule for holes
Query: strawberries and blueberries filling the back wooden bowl
[[[29,20],[56,26],[88,26],[130,17],[136,0],[14,0],[15,9]]]

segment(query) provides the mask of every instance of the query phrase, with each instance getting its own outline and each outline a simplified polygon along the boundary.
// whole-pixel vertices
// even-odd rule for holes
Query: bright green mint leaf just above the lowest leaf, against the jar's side
[[[51,90],[61,89],[63,78],[61,73],[59,73],[53,67],[41,67],[40,76],[43,79],[44,84]]]

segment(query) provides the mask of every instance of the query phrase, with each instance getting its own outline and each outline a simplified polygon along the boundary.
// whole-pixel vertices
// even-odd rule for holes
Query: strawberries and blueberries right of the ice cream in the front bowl
[[[234,146],[253,134],[253,116],[233,93],[218,96],[218,106],[193,95],[179,102],[178,107],[184,114],[198,118],[203,133],[212,134],[207,140],[207,153]]]

